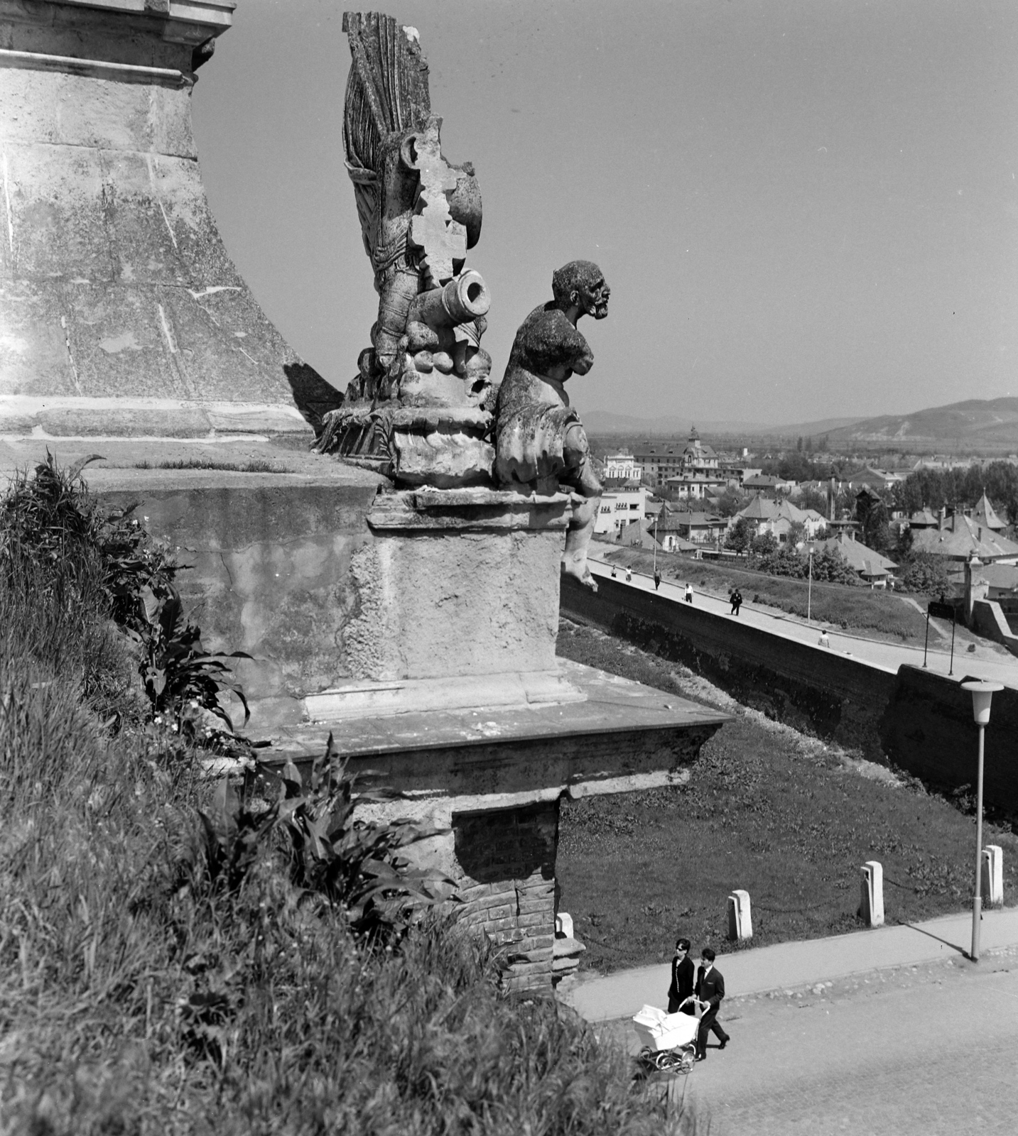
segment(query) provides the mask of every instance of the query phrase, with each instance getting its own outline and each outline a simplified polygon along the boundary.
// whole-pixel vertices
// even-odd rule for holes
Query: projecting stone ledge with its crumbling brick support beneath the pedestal
[[[359,784],[397,791],[366,818],[445,830],[414,855],[457,883],[464,918],[501,949],[511,989],[552,986],[561,799],[682,784],[728,717],[565,660],[559,676],[569,701],[393,705],[325,716],[274,740],[272,760],[300,766],[332,733]]]

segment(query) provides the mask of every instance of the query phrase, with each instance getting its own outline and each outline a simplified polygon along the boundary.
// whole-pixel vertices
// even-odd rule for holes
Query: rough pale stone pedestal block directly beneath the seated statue
[[[379,682],[556,670],[566,494],[379,493],[352,566],[344,634],[356,677]]]

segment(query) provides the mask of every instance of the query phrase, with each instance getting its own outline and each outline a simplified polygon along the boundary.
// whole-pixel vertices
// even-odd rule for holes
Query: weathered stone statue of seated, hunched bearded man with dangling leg
[[[576,329],[581,316],[603,319],[611,290],[590,260],[571,260],[552,274],[554,299],[535,308],[516,333],[495,406],[495,479],[500,485],[550,494],[571,490],[573,520],[562,570],[596,591],[586,562],[601,483],[586,433],[569,406],[566,381],[594,362]]]

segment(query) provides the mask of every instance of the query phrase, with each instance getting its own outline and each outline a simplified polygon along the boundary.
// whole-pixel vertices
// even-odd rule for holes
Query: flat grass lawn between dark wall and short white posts
[[[975,822],[915,782],[894,785],[835,747],[777,726],[690,671],[564,621],[559,654],[735,712],[704,745],[687,786],[564,804],[561,908],[587,944],[584,964],[664,961],[678,934],[728,951],[726,897],[750,893],[754,945],[858,929],[859,868],[884,866],[887,921],[959,911],[971,894]],[[702,692],[707,692],[703,696]],[[1004,894],[1018,885],[1018,838]]]

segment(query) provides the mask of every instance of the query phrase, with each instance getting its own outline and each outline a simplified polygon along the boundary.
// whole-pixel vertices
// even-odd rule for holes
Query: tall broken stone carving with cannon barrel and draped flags
[[[494,398],[481,336],[491,299],[465,268],[481,235],[474,167],[442,153],[416,28],[347,12],[343,30],[343,147],[378,318],[316,449],[402,485],[490,484]]]

